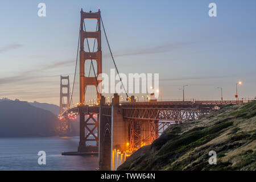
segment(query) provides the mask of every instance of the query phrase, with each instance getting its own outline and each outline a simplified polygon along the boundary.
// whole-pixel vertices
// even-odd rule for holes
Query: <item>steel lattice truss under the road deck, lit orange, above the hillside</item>
[[[129,121],[129,150],[152,143],[172,123],[199,119],[209,110],[173,108],[123,108]]]

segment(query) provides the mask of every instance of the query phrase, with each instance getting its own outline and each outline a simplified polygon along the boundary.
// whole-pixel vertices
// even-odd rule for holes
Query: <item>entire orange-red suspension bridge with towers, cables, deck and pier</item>
[[[96,13],[81,10],[79,42],[72,89],[69,76],[60,77],[60,136],[71,131],[71,121],[79,115],[80,142],[77,152],[64,155],[98,153],[101,170],[115,170],[138,148],[151,144],[172,122],[199,119],[202,115],[223,105],[241,104],[242,101],[157,101],[141,102],[129,96],[119,75],[109,40],[106,36],[100,9]],[[85,20],[97,21],[96,31],[86,31]],[[101,35],[101,26],[104,37]],[[93,40],[93,47],[90,46]],[[102,56],[102,42],[107,46]],[[97,46],[96,46],[97,44]],[[80,49],[79,49],[80,47]],[[92,48],[91,48],[92,47]],[[79,57],[80,100],[73,103],[76,70]],[[125,92],[101,94],[98,76],[115,69]],[[66,84],[63,81],[66,80]],[[115,80],[117,81],[117,80]],[[63,91],[65,89],[65,92]],[[117,90],[120,91],[120,90]],[[120,92],[118,92],[120,93]],[[70,96],[71,95],[71,96]],[[64,99],[65,98],[65,99]],[[85,100],[85,98],[88,98]],[[87,132],[86,132],[87,131]],[[86,145],[96,142],[97,146]]]

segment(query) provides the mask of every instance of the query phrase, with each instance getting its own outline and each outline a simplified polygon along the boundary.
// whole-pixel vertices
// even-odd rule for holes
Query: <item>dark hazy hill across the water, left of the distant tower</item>
[[[0,101],[0,137],[58,135],[59,119],[51,111],[24,101]]]

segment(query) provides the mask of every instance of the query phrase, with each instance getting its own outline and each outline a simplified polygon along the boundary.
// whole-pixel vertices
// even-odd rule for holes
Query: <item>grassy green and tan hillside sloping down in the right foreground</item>
[[[118,170],[256,170],[256,101],[171,125]],[[217,152],[210,165],[209,151]]]

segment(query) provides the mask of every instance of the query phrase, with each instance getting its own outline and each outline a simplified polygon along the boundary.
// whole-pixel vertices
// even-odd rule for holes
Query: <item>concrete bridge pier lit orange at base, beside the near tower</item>
[[[100,170],[115,170],[124,159],[121,151],[129,150],[129,123],[125,122],[119,106],[119,96],[114,94],[112,106],[105,105],[105,97],[100,101]]]

